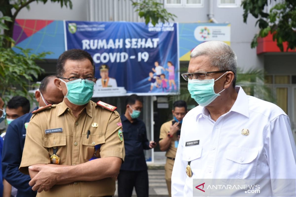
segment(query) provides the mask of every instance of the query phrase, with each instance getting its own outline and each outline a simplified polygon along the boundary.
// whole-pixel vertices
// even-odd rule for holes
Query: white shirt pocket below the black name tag
[[[191,171],[192,171],[192,177],[194,177],[194,175],[198,175],[200,174],[200,170],[201,170],[201,155],[202,155],[202,146],[185,146],[183,148],[183,152],[182,152],[182,160],[186,162],[186,166],[188,164],[188,162],[190,162],[190,167],[191,167]],[[184,170],[184,173],[186,173],[186,169],[182,169]],[[187,175],[186,175],[187,176]],[[187,178],[189,178],[187,176]],[[189,178],[189,179],[191,179]]]

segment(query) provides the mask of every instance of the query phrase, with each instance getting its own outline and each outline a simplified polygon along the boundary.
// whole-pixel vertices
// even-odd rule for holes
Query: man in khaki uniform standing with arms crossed
[[[116,107],[90,101],[96,79],[89,53],[64,52],[57,76],[65,98],[33,112],[20,171],[30,174],[37,196],[112,196],[125,156]]]

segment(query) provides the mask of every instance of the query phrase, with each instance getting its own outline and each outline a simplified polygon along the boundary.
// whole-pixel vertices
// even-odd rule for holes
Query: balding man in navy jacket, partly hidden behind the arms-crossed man
[[[54,84],[56,76],[46,76],[35,92],[35,97],[39,107],[49,104],[58,104],[63,101],[64,95]],[[35,108],[34,110],[37,110]],[[29,185],[31,180],[29,175],[19,171],[22,150],[24,149],[26,128],[33,114],[28,113],[17,118],[9,124],[5,136],[2,155],[2,172],[5,178],[13,187],[17,189],[17,197],[36,196],[37,192]]]

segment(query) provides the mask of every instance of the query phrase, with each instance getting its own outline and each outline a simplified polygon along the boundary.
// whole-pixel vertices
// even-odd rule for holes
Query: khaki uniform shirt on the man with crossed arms
[[[53,147],[57,147],[56,154],[60,157],[60,165],[78,165],[88,162],[94,155],[94,146],[98,144],[101,146],[96,157],[124,159],[124,142],[119,137],[122,126],[117,111],[111,112],[92,101],[77,118],[71,111],[63,101],[32,116],[27,128],[20,165],[21,172],[28,174],[30,165],[50,164]],[[92,123],[97,123],[98,126],[93,127]],[[47,129],[54,131],[57,128],[62,128],[62,132],[48,133]],[[88,130],[90,134],[87,138]],[[114,195],[114,192],[115,178],[105,178],[54,185],[49,191],[42,191],[37,196],[106,196]]]

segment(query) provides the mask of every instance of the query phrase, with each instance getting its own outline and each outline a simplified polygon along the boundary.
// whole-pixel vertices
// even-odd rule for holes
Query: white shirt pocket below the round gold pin
[[[229,179],[250,179],[250,184],[254,184],[258,152],[258,149],[228,146],[223,159],[222,178],[230,184],[234,180]]]

